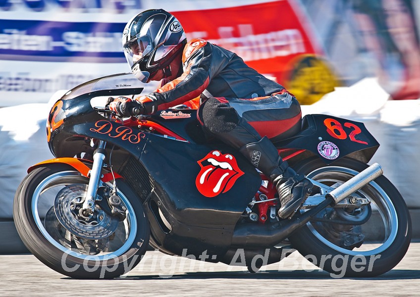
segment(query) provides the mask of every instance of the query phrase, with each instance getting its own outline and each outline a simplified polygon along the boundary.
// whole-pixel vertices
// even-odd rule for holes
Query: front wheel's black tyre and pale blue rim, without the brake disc
[[[16,229],[25,246],[61,274],[78,279],[118,277],[136,266],[145,254],[149,221],[139,198],[117,179],[118,196],[127,208],[125,220],[117,223],[111,235],[99,240],[70,233],[56,218],[54,199],[60,189],[69,185],[81,185],[79,188],[83,189],[88,182],[88,178],[66,164],[36,168],[16,191],[13,207]]]

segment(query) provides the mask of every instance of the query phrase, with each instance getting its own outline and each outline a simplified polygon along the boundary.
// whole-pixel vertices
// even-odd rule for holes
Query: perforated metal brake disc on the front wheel
[[[109,237],[118,227],[119,220],[108,215],[99,205],[86,215],[82,206],[88,186],[74,184],[61,189],[54,200],[54,211],[58,221],[73,235],[100,240]]]

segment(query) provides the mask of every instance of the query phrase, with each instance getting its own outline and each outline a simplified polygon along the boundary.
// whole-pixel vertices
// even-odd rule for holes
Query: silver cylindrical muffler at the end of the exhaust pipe
[[[383,174],[382,167],[378,163],[373,163],[358,175],[355,175],[347,182],[332,190],[325,198],[332,198],[334,205],[348,197],[350,194],[363,188],[365,185],[373,181],[375,178]]]

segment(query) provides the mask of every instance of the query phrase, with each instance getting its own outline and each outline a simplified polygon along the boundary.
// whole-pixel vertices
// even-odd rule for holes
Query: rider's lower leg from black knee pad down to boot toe
[[[217,98],[207,99],[198,111],[205,131],[224,143],[239,149],[275,185],[280,198],[279,217],[291,217],[311,193],[312,183],[296,174],[278,155],[277,148],[267,137],[246,122],[237,111]]]

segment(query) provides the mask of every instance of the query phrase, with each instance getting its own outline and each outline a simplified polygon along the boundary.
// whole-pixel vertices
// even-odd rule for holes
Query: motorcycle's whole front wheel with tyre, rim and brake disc
[[[150,227],[142,203],[117,179],[119,216],[110,210],[102,185],[93,213],[82,204],[89,179],[66,164],[31,171],[14,198],[16,229],[26,247],[53,270],[78,279],[114,278],[136,266],[149,244]]]

